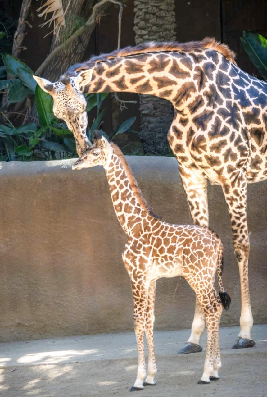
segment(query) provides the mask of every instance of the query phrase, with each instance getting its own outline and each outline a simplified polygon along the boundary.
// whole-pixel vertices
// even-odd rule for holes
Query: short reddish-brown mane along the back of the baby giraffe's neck
[[[152,209],[150,208],[150,206],[148,205],[148,203],[146,202],[145,198],[142,195],[142,192],[140,191],[140,188],[137,184],[137,181],[133,175],[133,172],[129,166],[129,164],[127,163],[125,157],[123,156],[123,153],[121,152],[121,149],[115,145],[115,143],[110,142],[111,147],[113,148],[114,152],[117,154],[117,156],[119,157],[119,159],[121,160],[121,163],[123,165],[123,168],[125,169],[127,178],[129,179],[130,185],[133,189],[134,195],[138,201],[138,203],[140,204],[140,206],[142,207],[143,210],[145,210],[146,212],[148,212],[148,214],[150,216],[153,216],[156,219],[161,219],[161,217],[159,217],[158,215],[154,214],[154,212],[152,211]]]

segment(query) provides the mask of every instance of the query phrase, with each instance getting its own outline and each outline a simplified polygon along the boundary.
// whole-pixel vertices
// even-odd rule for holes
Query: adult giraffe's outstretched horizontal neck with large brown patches
[[[176,52],[126,56],[96,62],[84,92],[132,92],[159,96],[182,110],[196,92],[193,58]],[[192,98],[190,98],[192,100]]]

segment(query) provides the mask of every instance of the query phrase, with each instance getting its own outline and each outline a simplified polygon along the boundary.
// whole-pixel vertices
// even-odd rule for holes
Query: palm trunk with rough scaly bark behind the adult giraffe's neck
[[[173,41],[175,36],[174,0],[134,0],[135,42]],[[173,119],[173,106],[165,99],[140,94],[141,131],[148,154],[167,154],[167,131]]]

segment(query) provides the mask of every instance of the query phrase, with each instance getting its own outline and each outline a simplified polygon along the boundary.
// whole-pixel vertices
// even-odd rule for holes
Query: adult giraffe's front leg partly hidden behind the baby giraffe
[[[189,168],[179,165],[182,185],[186,194],[194,225],[208,226],[209,211],[207,203],[207,179],[197,175]],[[198,353],[202,351],[200,338],[205,330],[205,314],[196,297],[194,320],[191,335],[179,354]]]

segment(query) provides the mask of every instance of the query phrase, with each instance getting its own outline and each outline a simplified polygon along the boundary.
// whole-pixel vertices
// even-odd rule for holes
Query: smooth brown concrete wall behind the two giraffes
[[[174,158],[127,160],[156,213],[167,222],[191,222]],[[104,170],[72,171],[72,162],[0,163],[0,341],[133,330],[133,298],[121,260],[126,235]],[[224,285],[232,297],[221,324],[235,325],[238,267],[219,186],[209,187],[209,208],[211,228],[223,239]],[[264,323],[267,181],[249,186],[248,224],[252,310],[255,323]],[[157,282],[157,330],[189,328],[193,314],[194,293],[184,279]]]

